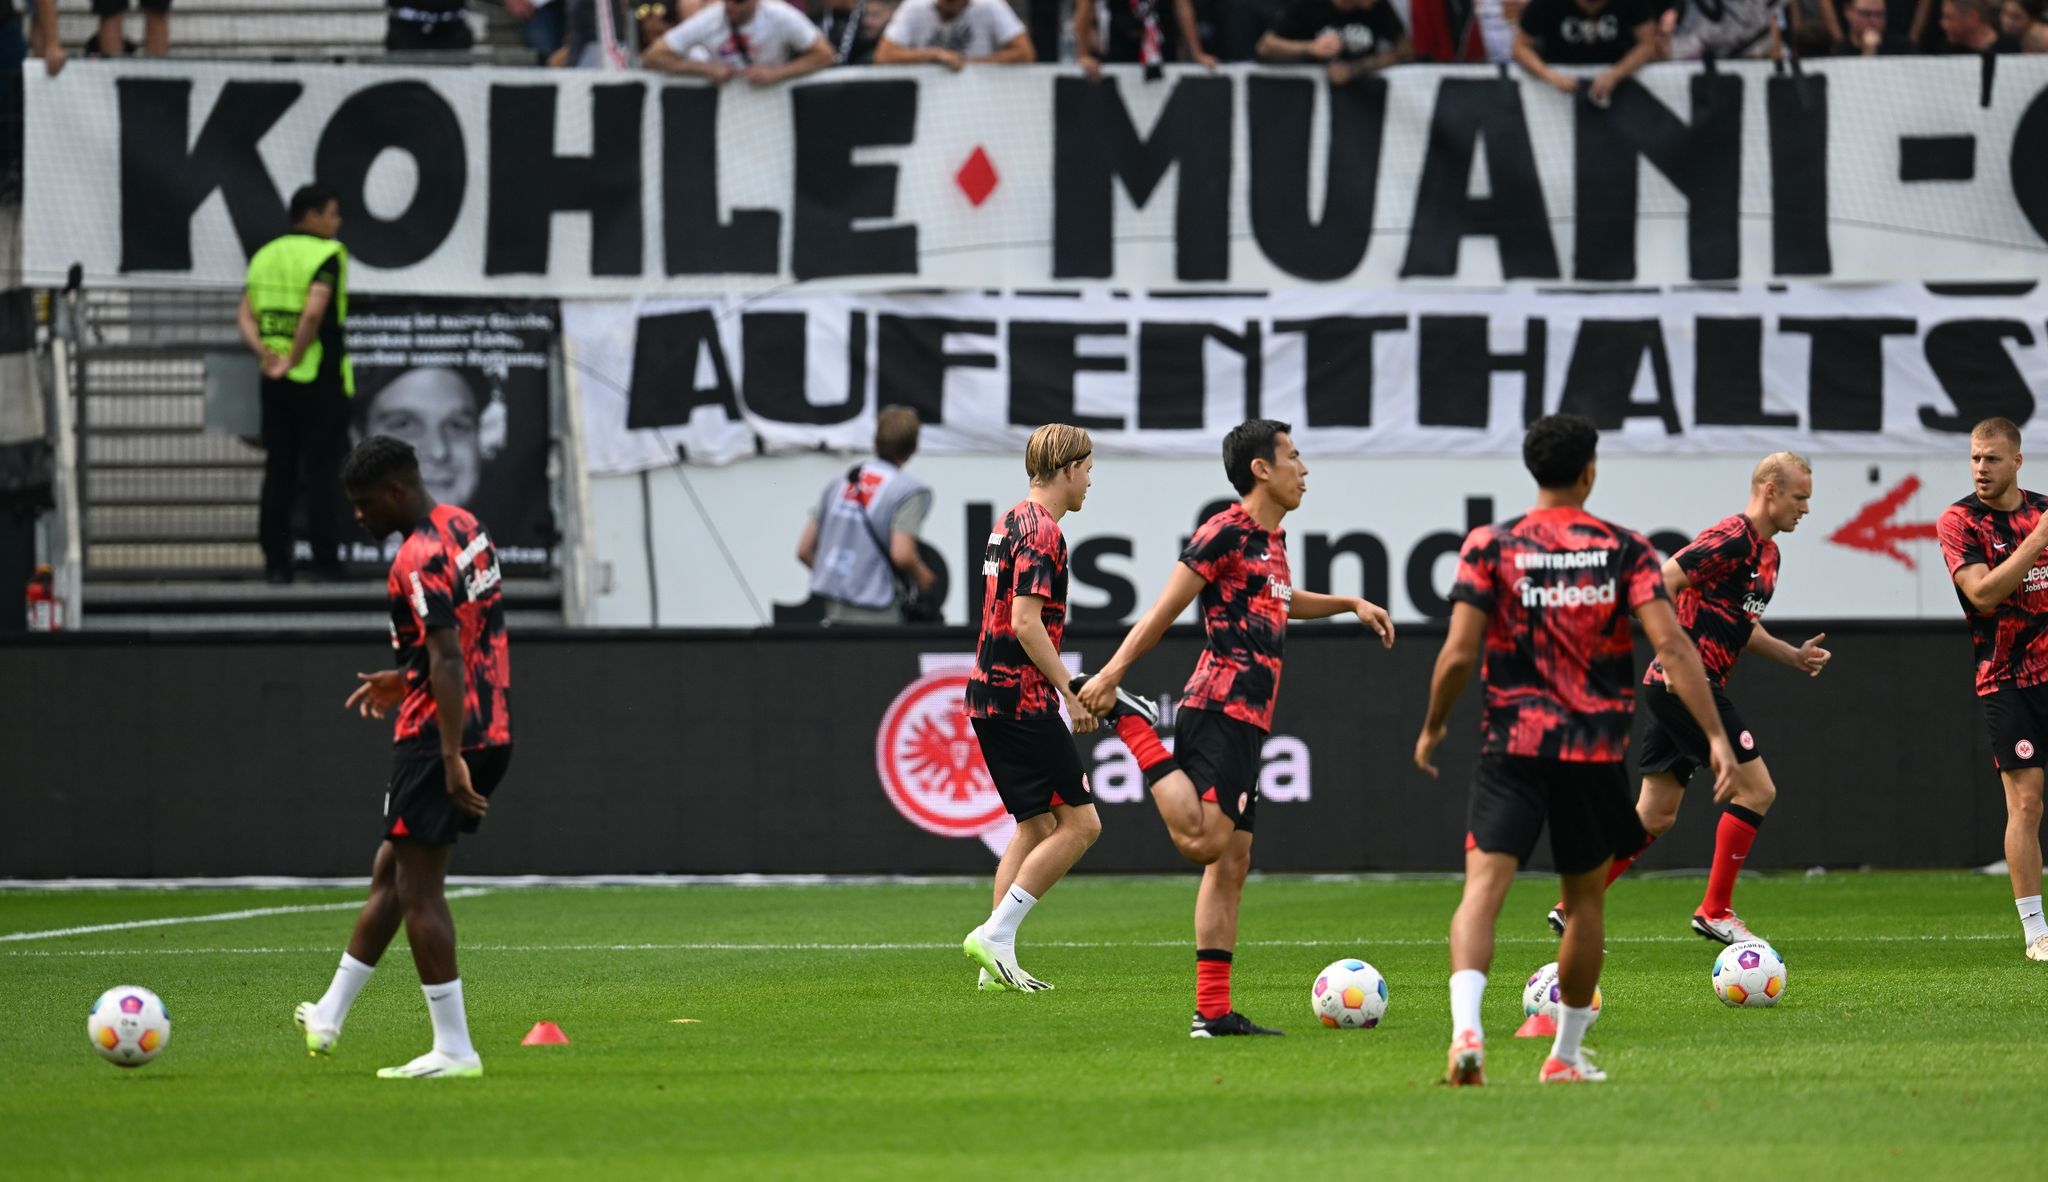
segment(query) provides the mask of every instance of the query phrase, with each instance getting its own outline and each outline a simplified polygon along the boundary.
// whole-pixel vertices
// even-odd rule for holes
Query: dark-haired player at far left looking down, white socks
[[[391,563],[391,647],[397,668],[356,674],[346,707],[393,725],[383,844],[371,867],[371,897],[356,916],[348,953],[317,1002],[293,1022],[305,1049],[328,1055],[356,994],[369,983],[399,922],[420,969],[434,1049],[381,1080],[481,1075],[469,1043],[463,981],[455,971],[455,918],[442,883],[457,834],[477,832],[492,791],[512,762],[512,658],[498,594],[498,551],[469,510],[434,504],[412,447],[373,434],[342,465],[342,488],[371,537],[406,535]]]

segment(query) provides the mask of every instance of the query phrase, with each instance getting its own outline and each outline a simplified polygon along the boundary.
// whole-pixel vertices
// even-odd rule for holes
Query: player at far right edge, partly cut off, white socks
[[[2042,760],[2048,758],[2048,496],[2019,488],[2019,428],[1970,432],[1976,492],[1942,510],[1935,535],[1976,643],[1976,694],[2005,783],[2005,869],[2030,961],[2048,961],[2042,920]]]

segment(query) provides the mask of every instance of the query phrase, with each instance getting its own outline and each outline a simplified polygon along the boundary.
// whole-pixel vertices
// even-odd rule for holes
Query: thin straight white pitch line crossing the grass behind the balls
[[[455,893],[451,891],[451,899]],[[354,903],[350,903],[354,905]],[[319,910],[319,907],[311,907]],[[1788,940],[1786,946],[1800,944],[1919,944],[1919,942],[1985,942],[1985,940],[2009,940],[2011,936],[1991,936],[1991,934],[1958,934],[1958,936],[1804,936],[1798,940]],[[1556,936],[1501,936],[1499,944],[1556,944]],[[1608,936],[1610,944],[1696,944],[1698,936]],[[1440,948],[1442,938],[1399,938],[1399,940],[1372,940],[1372,938],[1329,938],[1329,940],[1239,940],[1247,948]],[[1188,940],[1032,940],[1034,948],[1186,948]],[[678,944],[463,944],[461,951],[467,953],[942,953],[954,951],[958,944],[952,942],[870,942],[870,944],[825,944],[825,942],[799,942],[799,944],[741,944],[723,940],[694,940]],[[276,955],[305,955],[305,953],[330,953],[332,948],[309,946],[309,948],[63,948],[63,951],[41,951],[41,948],[8,948],[0,951],[0,957],[276,957]]]

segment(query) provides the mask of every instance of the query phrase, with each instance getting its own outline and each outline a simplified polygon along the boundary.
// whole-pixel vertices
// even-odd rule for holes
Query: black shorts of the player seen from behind
[[[1550,824],[1550,860],[1561,875],[1583,875],[1642,846],[1642,821],[1622,764],[1479,756],[1466,848],[1528,862],[1544,821]]]

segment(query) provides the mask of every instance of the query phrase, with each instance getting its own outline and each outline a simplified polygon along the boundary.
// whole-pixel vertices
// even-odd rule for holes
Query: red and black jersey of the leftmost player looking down
[[[406,701],[391,733],[399,748],[440,750],[426,653],[426,633],[434,629],[457,629],[463,643],[463,750],[512,742],[512,653],[498,578],[498,549],[483,522],[453,504],[436,504],[397,547],[389,594],[391,647],[406,674]]]

